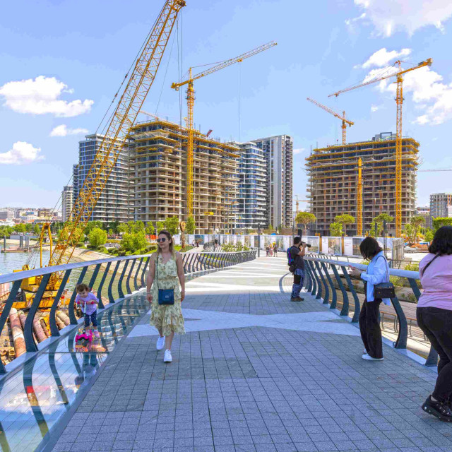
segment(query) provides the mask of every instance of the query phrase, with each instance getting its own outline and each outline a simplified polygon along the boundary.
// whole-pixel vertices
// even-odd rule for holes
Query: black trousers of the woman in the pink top
[[[434,398],[440,402],[452,395],[452,311],[440,308],[417,308],[417,325],[438,352],[438,378]]]

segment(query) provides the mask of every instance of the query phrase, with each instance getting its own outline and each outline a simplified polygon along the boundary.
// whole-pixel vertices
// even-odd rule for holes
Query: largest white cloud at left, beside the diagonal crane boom
[[[54,114],[57,117],[73,117],[89,112],[93,100],[68,102],[59,97],[73,93],[67,85],[54,77],[39,76],[35,80],[13,81],[0,86],[4,105],[18,113]]]

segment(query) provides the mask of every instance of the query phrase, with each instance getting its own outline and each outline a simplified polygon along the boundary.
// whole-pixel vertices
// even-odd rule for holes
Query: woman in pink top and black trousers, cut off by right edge
[[[452,422],[452,226],[436,231],[419,274],[424,293],[417,303],[417,324],[439,355],[435,389],[422,409]]]

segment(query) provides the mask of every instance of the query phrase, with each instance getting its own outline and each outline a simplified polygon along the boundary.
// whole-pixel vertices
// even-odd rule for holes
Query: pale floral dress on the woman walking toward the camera
[[[153,296],[150,324],[155,326],[155,328],[161,329],[162,334],[165,336],[171,333],[184,334],[184,317],[182,316],[181,307],[182,296],[179,287],[179,277],[177,276],[176,258],[171,257],[169,261],[163,263],[162,256],[158,256],[155,266],[158,266],[158,273],[156,268],[153,287],[150,290]],[[174,304],[158,304],[159,289],[174,289]]]

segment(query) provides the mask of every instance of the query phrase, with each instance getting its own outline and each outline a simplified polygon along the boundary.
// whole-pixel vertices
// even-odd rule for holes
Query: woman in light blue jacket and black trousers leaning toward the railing
[[[379,323],[379,307],[381,302],[391,304],[389,298],[374,298],[374,285],[389,283],[388,261],[379,246],[379,242],[372,237],[366,237],[359,245],[364,259],[370,259],[367,271],[353,268],[352,275],[364,280],[364,292],[366,298],[359,313],[359,331],[361,331],[362,343],[364,343],[364,355],[362,359],[367,361],[383,360],[383,341]]]

